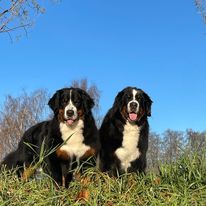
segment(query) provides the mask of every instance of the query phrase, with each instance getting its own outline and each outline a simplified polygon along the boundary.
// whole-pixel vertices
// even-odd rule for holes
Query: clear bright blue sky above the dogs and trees
[[[153,100],[152,131],[206,130],[206,25],[192,0],[47,3],[28,37],[0,34],[0,104],[6,94],[53,94],[87,78],[101,114],[126,86]]]

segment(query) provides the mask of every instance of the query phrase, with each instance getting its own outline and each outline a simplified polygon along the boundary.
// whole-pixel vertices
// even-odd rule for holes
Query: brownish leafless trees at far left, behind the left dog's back
[[[48,94],[40,89],[19,97],[7,95],[0,111],[0,159],[17,147],[26,129],[45,118]]]

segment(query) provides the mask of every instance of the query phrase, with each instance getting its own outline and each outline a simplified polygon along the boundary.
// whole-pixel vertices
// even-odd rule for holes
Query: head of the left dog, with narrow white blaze
[[[60,122],[71,126],[91,112],[94,101],[84,90],[71,87],[58,90],[48,105]]]

